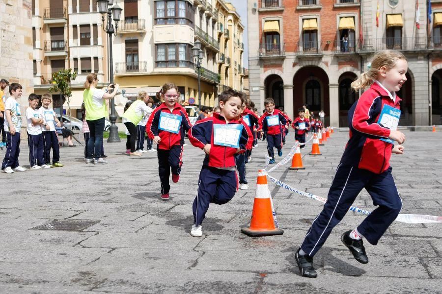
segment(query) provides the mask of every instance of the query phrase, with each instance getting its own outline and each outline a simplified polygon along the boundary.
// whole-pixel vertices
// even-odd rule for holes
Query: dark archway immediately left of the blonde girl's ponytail
[[[353,103],[358,99],[358,93],[353,90],[351,83],[357,79],[355,73],[342,73],[339,77],[339,126],[347,127],[348,125],[348,110]]]

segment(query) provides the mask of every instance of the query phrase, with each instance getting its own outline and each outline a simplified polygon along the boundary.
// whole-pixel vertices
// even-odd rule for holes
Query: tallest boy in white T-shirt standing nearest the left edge
[[[4,130],[6,132],[6,152],[4,154],[1,170],[6,173],[26,172],[24,167],[19,165],[20,155],[20,128],[22,127],[22,116],[20,104],[17,101],[22,97],[22,85],[11,83],[9,85],[9,96],[4,103]]]

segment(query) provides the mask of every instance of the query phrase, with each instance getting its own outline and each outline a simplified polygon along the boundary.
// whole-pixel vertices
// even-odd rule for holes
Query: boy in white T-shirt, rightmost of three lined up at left
[[[61,123],[57,119],[54,109],[49,107],[51,102],[51,95],[43,94],[41,97],[41,107],[38,110],[44,121],[41,128],[43,136],[43,160],[46,165],[51,166],[52,148],[52,166],[60,168],[63,165],[60,163],[60,146],[58,145],[58,135],[55,126],[61,127]]]

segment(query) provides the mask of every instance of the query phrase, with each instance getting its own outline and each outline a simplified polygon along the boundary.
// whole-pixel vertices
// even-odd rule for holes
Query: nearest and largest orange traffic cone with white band
[[[258,171],[250,226],[242,228],[241,232],[252,237],[282,235],[284,233],[284,230],[275,226],[265,170]]]

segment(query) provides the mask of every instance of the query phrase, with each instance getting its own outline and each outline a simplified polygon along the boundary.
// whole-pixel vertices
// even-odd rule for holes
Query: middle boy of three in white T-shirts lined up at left
[[[28,126],[28,147],[29,147],[29,166],[30,170],[49,169],[43,161],[43,135],[41,134],[42,125],[47,125],[40,112],[35,109],[38,106],[40,98],[35,94],[28,97],[29,107],[26,109],[26,119]]]

